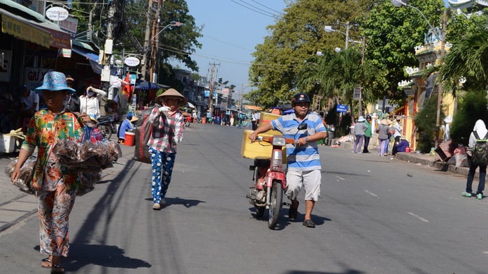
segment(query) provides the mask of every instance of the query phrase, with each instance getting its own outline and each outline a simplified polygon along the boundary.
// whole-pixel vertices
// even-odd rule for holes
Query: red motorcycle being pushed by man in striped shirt
[[[299,125],[299,130],[305,130],[306,124]],[[280,135],[258,136],[256,142],[266,142],[273,145],[271,158],[256,158],[254,165],[249,167],[254,171],[249,194],[246,195],[250,204],[256,207],[256,218],[260,219],[266,209],[269,210],[268,227],[275,229],[282,208],[283,191],[287,185],[285,170],[283,169],[282,148],[286,144],[296,144],[296,139],[285,138]],[[286,155],[285,155],[286,157]]]

